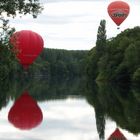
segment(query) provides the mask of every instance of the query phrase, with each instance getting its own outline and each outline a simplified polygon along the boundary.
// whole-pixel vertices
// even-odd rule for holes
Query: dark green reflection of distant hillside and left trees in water
[[[15,79],[4,79],[0,81],[0,110],[10,100],[16,100],[24,91],[37,101],[66,99],[71,96],[81,96],[84,80],[80,78],[63,78],[34,76],[30,78],[27,73]]]

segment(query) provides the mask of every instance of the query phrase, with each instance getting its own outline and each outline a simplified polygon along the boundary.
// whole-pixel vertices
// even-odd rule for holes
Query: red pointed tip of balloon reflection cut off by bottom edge
[[[110,135],[108,140],[127,140],[118,128]]]

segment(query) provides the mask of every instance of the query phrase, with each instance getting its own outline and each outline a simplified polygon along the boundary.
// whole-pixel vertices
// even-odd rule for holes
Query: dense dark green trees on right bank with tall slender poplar
[[[126,29],[106,39],[106,21],[101,20],[96,46],[86,60],[87,74],[96,81],[140,82],[140,27]]]

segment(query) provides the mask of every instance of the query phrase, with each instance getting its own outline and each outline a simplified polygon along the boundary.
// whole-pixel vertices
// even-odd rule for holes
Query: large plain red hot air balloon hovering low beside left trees
[[[10,42],[14,47],[13,50],[16,51],[19,62],[25,69],[38,57],[44,46],[42,37],[30,30],[15,32],[11,36]]]

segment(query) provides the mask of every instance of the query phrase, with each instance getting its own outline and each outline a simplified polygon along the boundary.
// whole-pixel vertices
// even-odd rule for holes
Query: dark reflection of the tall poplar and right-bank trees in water
[[[104,139],[105,119],[111,119],[122,129],[138,135],[140,133],[139,88],[107,83],[88,83],[85,96],[95,109],[97,131]]]

